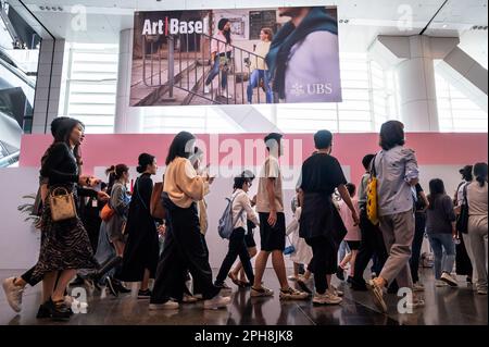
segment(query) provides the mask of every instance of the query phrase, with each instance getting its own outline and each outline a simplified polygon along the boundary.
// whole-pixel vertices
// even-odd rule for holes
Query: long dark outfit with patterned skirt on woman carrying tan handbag
[[[66,144],[51,146],[42,161],[40,173],[49,179],[49,194],[58,187],[64,187],[74,194],[75,200],[78,199],[78,165]],[[41,221],[41,246],[33,273],[34,281],[40,281],[46,273],[52,271],[98,268],[88,233],[78,216],[61,222],[52,221],[51,206],[49,199],[46,199]]]

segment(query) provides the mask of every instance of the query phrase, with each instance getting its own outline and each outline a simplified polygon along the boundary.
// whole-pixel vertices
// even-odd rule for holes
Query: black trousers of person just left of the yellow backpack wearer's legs
[[[365,209],[360,210],[360,232],[362,240],[359,252],[356,253],[353,283],[365,285],[363,273],[372,257],[377,257],[377,267],[379,269],[376,269],[376,273],[378,274],[387,260],[387,250],[381,232],[371,223]]]

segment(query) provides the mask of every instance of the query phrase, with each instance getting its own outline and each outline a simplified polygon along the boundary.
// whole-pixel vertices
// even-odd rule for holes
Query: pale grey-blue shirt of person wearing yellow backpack
[[[378,213],[391,215],[413,210],[413,190],[409,182],[418,178],[416,157],[412,149],[396,146],[375,157],[378,179]]]

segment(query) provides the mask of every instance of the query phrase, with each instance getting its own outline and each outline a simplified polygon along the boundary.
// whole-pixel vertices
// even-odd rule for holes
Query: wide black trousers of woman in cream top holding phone
[[[187,269],[193,281],[199,283],[203,299],[215,297],[220,289],[212,283],[212,270],[200,234],[196,203],[183,209],[167,196],[163,202],[167,211],[168,232],[156,269],[151,303],[164,303],[170,298],[181,300]]]

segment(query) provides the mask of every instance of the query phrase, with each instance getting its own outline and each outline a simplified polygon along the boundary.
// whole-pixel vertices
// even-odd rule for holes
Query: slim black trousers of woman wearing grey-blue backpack
[[[250,261],[250,253],[248,252],[247,243],[244,241],[244,228],[235,228],[229,237],[229,248],[227,250],[226,258],[224,258],[220,272],[215,280],[216,284],[222,284],[235,263],[236,258],[241,260],[242,269],[247,274],[250,283],[254,282],[253,267]]]

